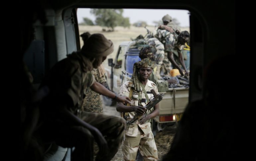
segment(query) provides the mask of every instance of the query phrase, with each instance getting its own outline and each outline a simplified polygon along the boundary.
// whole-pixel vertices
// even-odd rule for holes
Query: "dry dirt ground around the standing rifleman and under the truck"
[[[112,106],[103,105],[103,113],[107,115],[120,116],[119,112],[116,111],[116,108]],[[176,125],[174,124],[173,126],[168,126],[163,131],[158,132],[157,135],[155,136],[155,142],[158,150],[158,160],[161,160],[162,157],[169,151],[175,132]],[[118,152],[111,161],[123,160],[123,153],[120,146]]]

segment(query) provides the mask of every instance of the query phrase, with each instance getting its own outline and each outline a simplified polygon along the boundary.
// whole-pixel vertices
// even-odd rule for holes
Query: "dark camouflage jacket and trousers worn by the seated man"
[[[63,147],[75,147],[73,155],[76,160],[93,160],[93,136],[91,132],[74,123],[66,123],[59,118],[57,108],[60,103],[67,109],[100,130],[108,143],[108,152],[98,156],[97,160],[110,160],[117,152],[125,129],[125,120],[120,117],[103,114],[81,112],[85,89],[95,83],[90,70],[90,60],[79,52],[72,53],[67,58],[59,61],[50,71],[49,76],[43,82],[50,88],[50,94],[44,99],[42,114],[44,124],[40,134],[43,140],[55,141]],[[63,109],[64,110],[64,109]],[[68,119],[68,118],[67,118]],[[82,153],[81,153],[82,151]]]

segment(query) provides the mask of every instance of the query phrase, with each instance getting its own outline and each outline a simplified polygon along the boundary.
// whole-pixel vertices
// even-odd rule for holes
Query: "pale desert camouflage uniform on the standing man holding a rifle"
[[[130,88],[128,85],[131,83],[131,80],[125,82],[119,91],[120,96],[129,96]],[[156,84],[148,80],[145,90],[147,91],[148,97],[151,98],[153,94],[150,92],[151,89],[154,89],[158,93]],[[138,94],[141,94],[141,100],[139,100]],[[131,106],[138,106],[141,101],[141,105],[146,105],[146,97],[140,87],[140,92],[133,91],[131,98]],[[135,112],[129,112],[127,120],[130,120],[135,115]],[[125,134],[125,140],[122,144],[122,151],[125,160],[135,160],[136,155],[140,149],[141,155],[144,157],[144,160],[157,160],[157,147],[154,140],[154,135],[151,131],[150,120],[146,121],[144,124],[139,124],[139,121],[135,121],[130,124],[128,130]]]

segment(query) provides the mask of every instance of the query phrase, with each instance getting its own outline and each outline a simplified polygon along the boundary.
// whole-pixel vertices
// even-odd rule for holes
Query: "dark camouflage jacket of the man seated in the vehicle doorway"
[[[59,102],[65,104],[75,115],[81,109],[85,89],[90,87],[96,80],[92,72],[86,69],[80,54],[67,57],[59,61],[51,69],[41,86],[47,85],[50,94],[44,100],[44,110],[53,110]]]

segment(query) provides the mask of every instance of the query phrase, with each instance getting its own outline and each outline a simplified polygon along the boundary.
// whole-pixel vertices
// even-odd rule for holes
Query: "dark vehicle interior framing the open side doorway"
[[[216,58],[225,55],[235,56],[235,1],[231,0],[52,0],[26,1],[23,5],[24,12],[20,15],[21,74],[24,74],[27,69],[30,70],[34,78],[33,87],[35,89],[38,89],[42,79],[54,64],[65,58],[67,54],[80,50],[76,8],[189,10],[191,33],[189,102],[203,98],[203,73],[206,66]],[[27,66],[26,69],[24,64]],[[222,71],[215,72],[217,76],[218,72],[229,71],[222,69]],[[20,95],[21,99],[25,100],[25,95],[32,88],[24,77],[21,81]],[[224,91],[226,92],[226,90]],[[232,91],[228,92],[232,93]],[[32,102],[37,99],[36,96],[29,97]],[[21,115],[23,115],[22,110]],[[32,124],[30,127],[35,127],[31,122],[37,120],[37,117],[39,114],[35,112],[35,115],[33,114],[33,117],[27,120],[30,122],[29,124]],[[22,119],[23,116],[21,116]],[[21,153],[23,150],[24,148],[21,147]],[[37,160],[40,159],[37,158]]]

